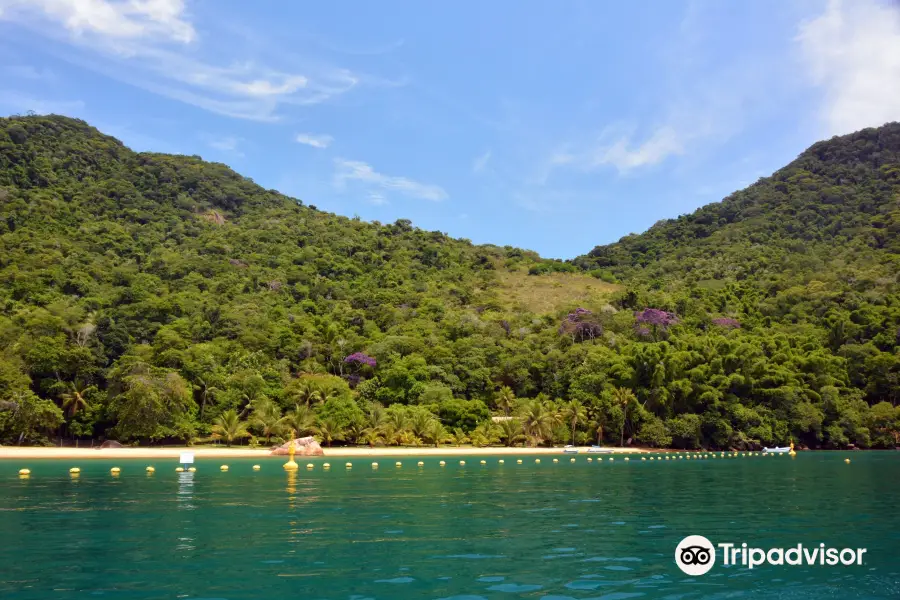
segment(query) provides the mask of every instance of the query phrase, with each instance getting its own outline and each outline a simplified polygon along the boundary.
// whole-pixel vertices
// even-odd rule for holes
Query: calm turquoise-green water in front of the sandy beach
[[[77,480],[72,461],[0,461],[0,598],[900,597],[900,453],[484,458],[314,459],[293,483],[282,457],[229,459],[227,473],[157,462],[152,476],[146,460],[86,460]],[[720,555],[691,578],[673,559],[689,534],[868,552],[862,566],[753,570]]]

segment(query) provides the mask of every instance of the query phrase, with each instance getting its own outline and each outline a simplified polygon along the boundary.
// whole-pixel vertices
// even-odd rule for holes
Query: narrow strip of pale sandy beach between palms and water
[[[374,456],[484,456],[484,455],[516,455],[516,454],[563,454],[562,448],[507,448],[490,447],[475,448],[472,446],[441,446],[439,448],[420,446],[418,448],[388,447],[336,447],[323,448],[326,457],[374,457]],[[587,447],[577,449],[579,454],[589,456]],[[639,453],[647,452],[642,448],[609,448],[615,453]],[[195,446],[195,447],[166,447],[166,448],[39,448],[28,446],[0,446],[0,459],[109,459],[109,458],[144,458],[158,460],[177,460],[182,452],[193,452],[196,459],[203,458],[267,458],[271,456],[268,448],[247,448],[234,446],[231,448]],[[300,455],[298,454],[298,457]],[[284,459],[283,456],[273,457]]]

